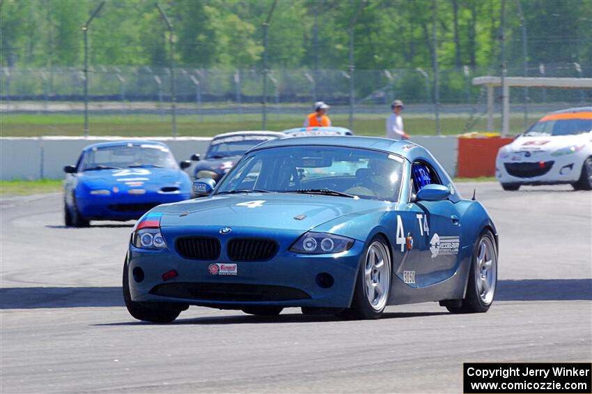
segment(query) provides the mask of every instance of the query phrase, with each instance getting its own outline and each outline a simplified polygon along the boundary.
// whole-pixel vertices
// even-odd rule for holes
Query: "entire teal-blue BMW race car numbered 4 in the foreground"
[[[375,319],[387,305],[439,301],[485,312],[498,236],[423,147],[374,137],[274,139],[208,197],[137,222],[123,267],[130,314],[173,321],[189,305]]]

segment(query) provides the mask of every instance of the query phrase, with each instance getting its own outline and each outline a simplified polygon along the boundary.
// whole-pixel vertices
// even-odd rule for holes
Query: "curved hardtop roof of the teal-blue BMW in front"
[[[305,145],[322,145],[322,146],[345,146],[351,148],[372,149],[375,151],[384,151],[387,153],[394,153],[398,156],[403,156],[407,160],[414,161],[417,159],[433,159],[433,156],[427,149],[410,141],[400,141],[396,139],[380,138],[380,137],[358,137],[358,136],[329,136],[329,137],[294,137],[283,139],[272,139],[270,141],[258,144],[251,151],[259,151],[260,149],[274,148],[278,146],[305,146]],[[247,152],[247,153],[248,153]]]

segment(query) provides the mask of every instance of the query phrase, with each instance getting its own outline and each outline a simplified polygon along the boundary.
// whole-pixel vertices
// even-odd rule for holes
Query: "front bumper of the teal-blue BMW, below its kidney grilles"
[[[280,242],[279,252],[265,262],[232,262],[224,248],[216,260],[185,259],[174,246],[169,248],[148,251],[130,245],[128,277],[133,301],[228,309],[244,305],[348,308],[364,243],[355,241],[350,250],[334,255],[299,255]],[[237,264],[237,273],[212,275],[208,271],[212,263]],[[163,274],[171,270],[178,276],[164,280]],[[327,275],[332,278],[329,282],[324,281]]]

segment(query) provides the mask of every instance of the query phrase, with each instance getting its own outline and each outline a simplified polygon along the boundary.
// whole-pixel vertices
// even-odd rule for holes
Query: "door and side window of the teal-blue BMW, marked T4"
[[[414,194],[429,184],[442,184],[435,169],[428,162],[414,162],[411,181]],[[422,254],[423,264],[428,266],[423,285],[433,285],[454,273],[460,248],[460,215],[450,199],[442,201],[415,201],[421,209],[424,222],[421,226],[423,240],[428,245]]]

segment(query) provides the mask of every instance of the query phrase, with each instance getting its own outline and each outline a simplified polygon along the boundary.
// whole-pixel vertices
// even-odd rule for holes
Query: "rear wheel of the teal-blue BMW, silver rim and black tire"
[[[469,271],[467,294],[460,307],[446,306],[452,313],[487,312],[497,287],[497,247],[489,230],[481,233],[475,244]]]

